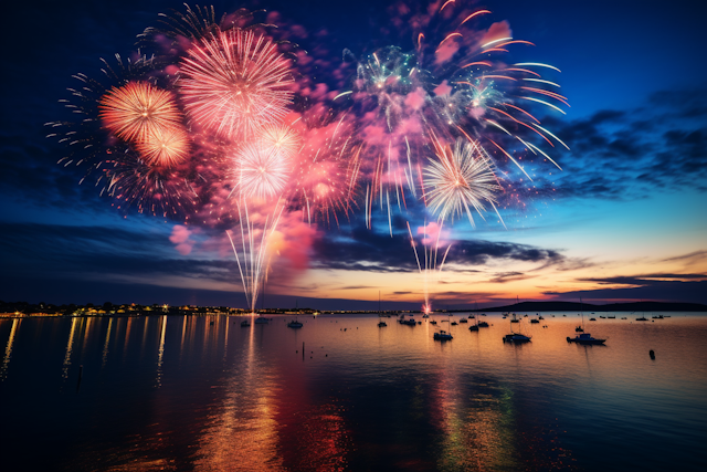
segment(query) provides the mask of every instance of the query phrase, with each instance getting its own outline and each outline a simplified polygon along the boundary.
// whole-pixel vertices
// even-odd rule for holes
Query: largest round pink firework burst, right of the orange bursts
[[[192,122],[222,138],[255,136],[278,123],[292,102],[292,64],[266,36],[217,31],[181,63],[179,91]]]

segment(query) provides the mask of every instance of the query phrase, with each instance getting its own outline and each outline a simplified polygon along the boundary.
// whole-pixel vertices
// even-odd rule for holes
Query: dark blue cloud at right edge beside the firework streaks
[[[707,88],[658,92],[632,111],[604,109],[548,125],[571,147],[536,187],[559,198],[625,199],[657,189],[707,191]],[[555,182],[555,183],[552,183]]]

